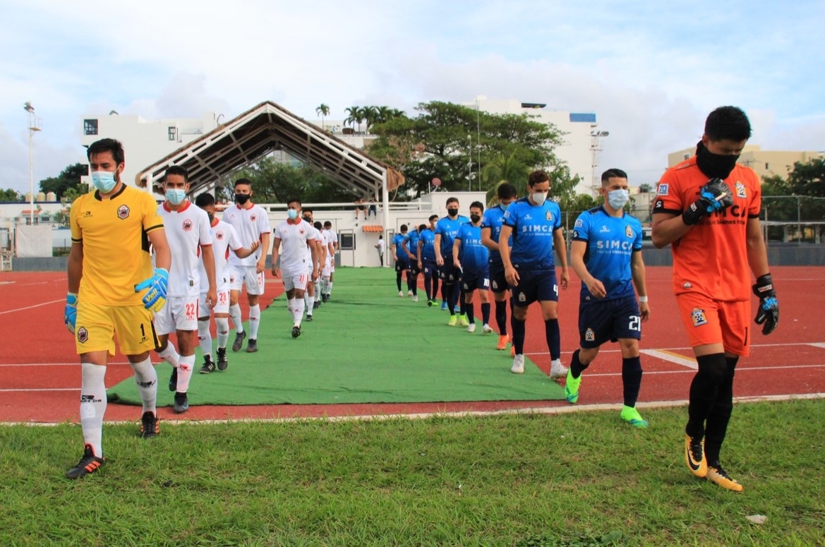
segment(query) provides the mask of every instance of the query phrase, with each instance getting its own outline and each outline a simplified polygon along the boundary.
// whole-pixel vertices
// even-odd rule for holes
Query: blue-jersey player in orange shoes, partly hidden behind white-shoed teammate
[[[507,279],[504,278],[504,264],[502,255],[498,252],[498,235],[502,232],[504,211],[507,210],[518,196],[516,186],[509,182],[502,182],[496,191],[498,205],[484,211],[481,219],[481,242],[490,250],[490,288],[493,290],[493,299],[496,301],[496,323],[498,325],[497,350],[506,350],[509,337],[507,336]],[[512,238],[507,242],[512,245]]]

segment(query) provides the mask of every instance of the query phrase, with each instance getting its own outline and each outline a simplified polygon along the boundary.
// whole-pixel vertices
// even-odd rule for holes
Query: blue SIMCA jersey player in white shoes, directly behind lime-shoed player
[[[559,204],[547,200],[550,179],[544,171],[530,173],[527,197],[513,201],[504,213],[499,241],[512,234],[512,248],[501,245],[504,276],[512,289],[511,320],[515,356],[510,369],[524,372],[524,336],[527,306],[538,300],[544,318],[544,336],[550,351],[550,377],[563,378],[567,369],[562,365],[561,334],[559,332],[559,284],[553,260],[558,250],[562,266],[562,289],[567,289],[570,275],[567,265],[567,245],[562,233]]]

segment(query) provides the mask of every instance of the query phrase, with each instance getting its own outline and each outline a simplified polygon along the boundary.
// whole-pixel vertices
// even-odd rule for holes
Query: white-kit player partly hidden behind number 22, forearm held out
[[[200,300],[198,302],[198,340],[200,351],[204,354],[204,364],[200,367],[200,374],[209,374],[217,365],[218,370],[226,370],[229,361],[226,360],[226,343],[229,342],[229,251],[238,258],[246,258],[255,252],[260,242],[253,241],[250,248],[244,248],[238,239],[238,233],[232,224],[216,219],[214,216],[214,196],[209,193],[200,194],[195,198],[195,205],[206,211],[210,219],[210,233],[212,234],[212,254],[214,254],[214,280],[217,286],[218,299],[212,313],[214,314],[215,330],[218,334],[217,363],[212,361],[212,334],[210,333],[210,309],[206,305],[206,296],[209,284],[206,281],[206,270],[203,261],[200,262]]]

